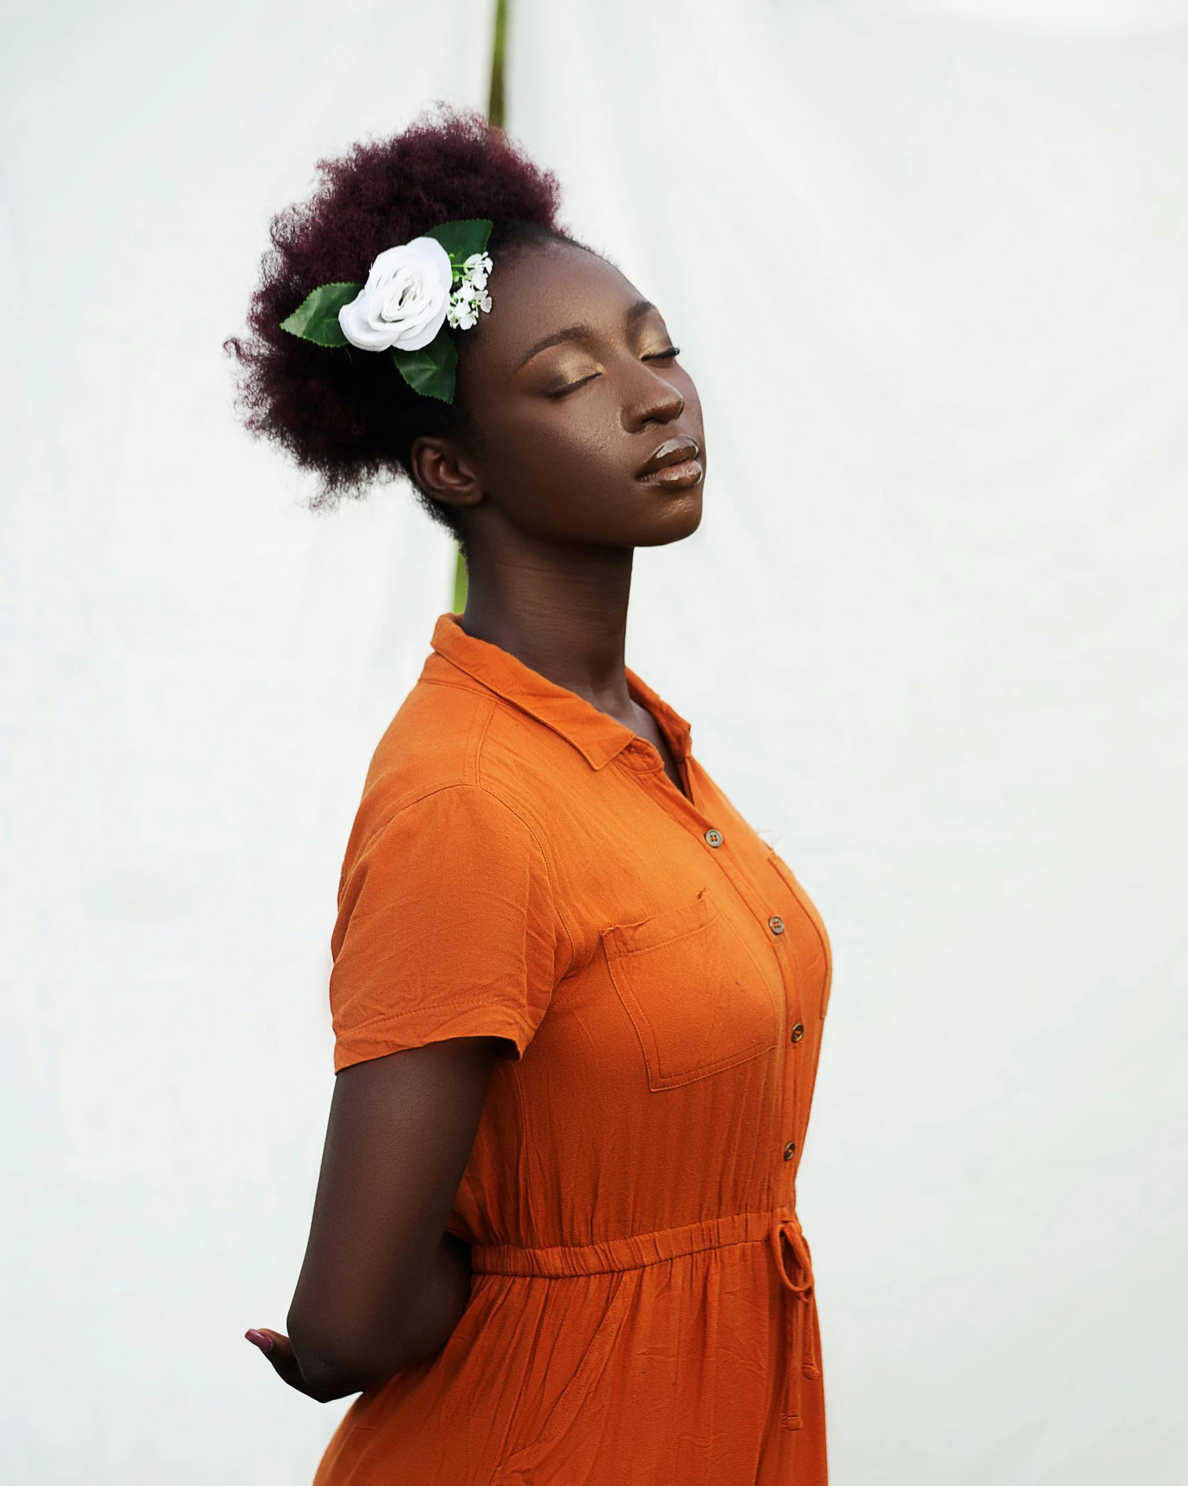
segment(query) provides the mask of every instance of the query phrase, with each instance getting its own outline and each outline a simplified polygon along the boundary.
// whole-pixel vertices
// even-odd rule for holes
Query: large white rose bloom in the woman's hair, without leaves
[[[420,351],[441,330],[451,279],[450,254],[437,238],[388,248],[358,296],[339,311],[343,334],[362,351]]]

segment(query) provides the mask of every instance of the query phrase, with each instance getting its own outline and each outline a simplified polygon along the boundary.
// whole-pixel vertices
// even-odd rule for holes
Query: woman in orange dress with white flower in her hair
[[[318,1486],[818,1486],[827,939],[624,666],[705,437],[659,311],[555,210],[474,117],[359,146],[233,343],[251,428],[327,498],[407,474],[469,569],[347,844],[309,1248],[288,1337],[248,1339],[359,1394]]]

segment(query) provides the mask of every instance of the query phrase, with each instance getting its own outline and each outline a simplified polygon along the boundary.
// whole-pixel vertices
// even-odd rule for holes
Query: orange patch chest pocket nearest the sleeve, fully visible
[[[652,1089],[673,1089],[780,1043],[783,987],[702,890],[637,924],[603,930],[619,1000]]]

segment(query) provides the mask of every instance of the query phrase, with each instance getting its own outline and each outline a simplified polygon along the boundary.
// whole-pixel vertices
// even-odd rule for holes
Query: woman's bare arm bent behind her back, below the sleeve
[[[450,1037],[337,1076],[288,1339],[249,1334],[291,1386],[342,1398],[446,1345],[471,1290],[446,1219],[506,1046]]]

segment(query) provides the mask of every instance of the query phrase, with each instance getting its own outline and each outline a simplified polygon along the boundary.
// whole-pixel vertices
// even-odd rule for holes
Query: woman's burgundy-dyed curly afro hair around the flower
[[[248,333],[226,345],[238,361],[248,429],[313,471],[312,505],[325,507],[364,495],[376,480],[410,476],[413,440],[456,432],[466,415],[457,401],[414,392],[391,357],[315,346],[281,330],[281,321],[319,284],[361,284],[379,253],[443,221],[490,217],[496,275],[500,254],[573,239],[557,226],[555,177],[475,113],[438,108],[389,140],[319,160],[318,172],[309,201],[273,217]],[[465,342],[457,337],[459,354]],[[448,507],[419,496],[456,531]]]

